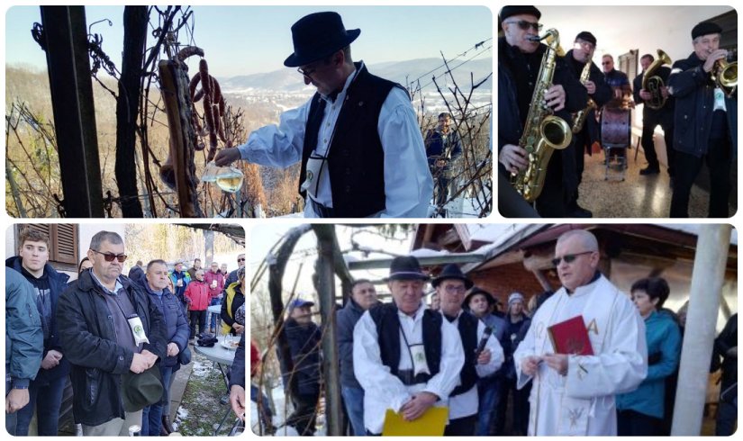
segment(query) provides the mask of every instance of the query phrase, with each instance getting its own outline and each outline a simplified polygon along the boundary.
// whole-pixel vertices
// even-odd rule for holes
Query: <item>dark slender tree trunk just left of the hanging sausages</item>
[[[147,40],[147,6],[124,8],[122,77],[116,102],[116,184],[125,218],[144,217],[137,189],[135,153],[140,80]]]

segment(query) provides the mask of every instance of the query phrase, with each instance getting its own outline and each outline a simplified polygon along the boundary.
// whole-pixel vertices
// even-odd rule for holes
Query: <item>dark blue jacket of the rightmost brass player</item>
[[[704,72],[704,61],[692,53],[689,58],[676,60],[668,86],[675,97],[674,148],[702,157],[707,153],[712,126],[714,84]],[[738,94],[725,97],[729,139],[733,152],[738,151]]]

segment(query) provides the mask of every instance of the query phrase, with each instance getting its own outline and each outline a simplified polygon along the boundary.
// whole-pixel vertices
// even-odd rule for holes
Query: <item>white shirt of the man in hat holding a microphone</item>
[[[458,327],[459,317],[461,317],[462,314],[468,314],[468,312],[459,311],[457,319],[452,321],[451,324],[455,327]],[[444,317],[444,321],[448,321],[446,317]],[[485,334],[485,323],[483,323],[482,320],[477,320],[476,344],[478,344],[480,342],[480,339],[483,338],[483,334]],[[487,343],[485,343],[485,349],[490,350],[490,362],[487,365],[480,365],[479,363],[475,365],[475,371],[477,373],[477,376],[480,378],[495,374],[495,371],[497,371],[501,367],[501,365],[503,365],[503,347],[501,347],[498,339],[495,338],[493,334],[491,334],[490,338],[487,339]],[[460,383],[461,382],[458,381],[457,385],[459,385]],[[469,417],[470,415],[475,415],[479,407],[479,402],[480,399],[477,394],[477,384],[472,386],[472,388],[467,392],[460,393],[459,395],[455,396],[450,396],[449,419],[460,419]]]

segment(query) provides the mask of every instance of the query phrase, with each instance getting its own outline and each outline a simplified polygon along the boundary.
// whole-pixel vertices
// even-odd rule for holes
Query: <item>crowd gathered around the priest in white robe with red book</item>
[[[382,434],[387,410],[412,421],[447,407],[445,436],[670,435],[685,322],[664,308],[666,280],[643,278],[621,293],[598,270],[598,243],[583,229],[557,239],[553,264],[562,287],[530,296],[531,311],[522,293],[511,293],[502,311],[458,266],[431,278],[415,257],[392,261],[387,288],[394,302],[380,302],[370,281],[355,281],[336,313],[348,434]],[[290,360],[282,361],[282,373],[294,404],[285,425],[304,436],[315,433],[322,383],[329,381],[313,306],[291,302],[283,329]],[[587,352],[565,352],[550,330],[575,318]],[[736,424],[737,344],[734,315],[715,343],[715,357],[724,359],[718,435],[730,435]],[[273,433],[275,412],[251,387]]]

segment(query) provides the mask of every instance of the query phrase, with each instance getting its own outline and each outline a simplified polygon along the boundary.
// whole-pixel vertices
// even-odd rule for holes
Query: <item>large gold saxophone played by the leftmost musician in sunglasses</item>
[[[544,37],[530,37],[532,41],[548,39],[547,50],[539,67],[537,84],[531,96],[531,105],[526,125],[519,139],[519,146],[527,151],[529,166],[511,175],[511,184],[528,202],[534,202],[542,192],[549,157],[554,149],[566,148],[573,139],[573,133],[565,120],[552,113],[545,102],[544,94],[552,85],[555,75],[555,59],[560,44],[556,29],[547,31]]]

